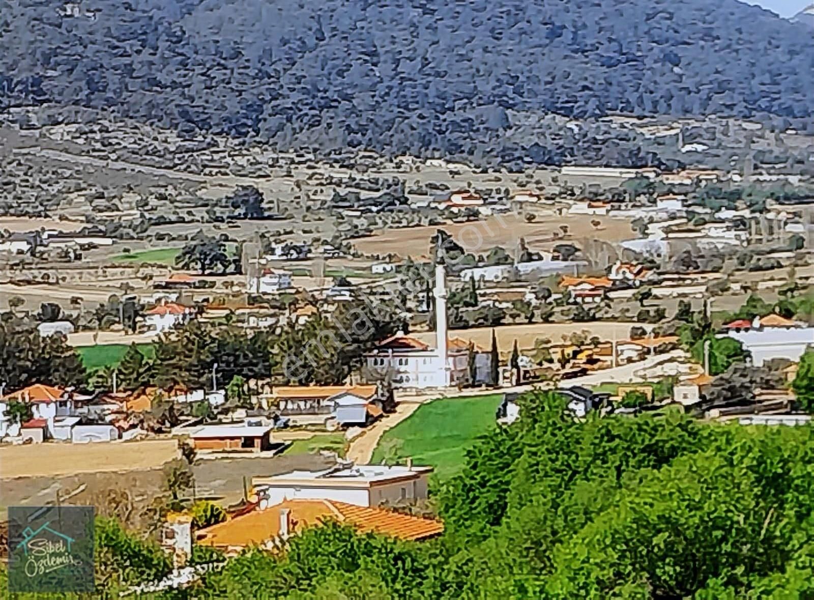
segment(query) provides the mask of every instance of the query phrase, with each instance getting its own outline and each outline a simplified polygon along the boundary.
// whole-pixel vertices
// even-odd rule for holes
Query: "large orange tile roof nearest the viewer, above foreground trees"
[[[352,525],[359,533],[381,533],[401,540],[422,540],[444,531],[444,524],[440,521],[402,515],[383,508],[357,507],[334,500],[287,500],[202,529],[197,533],[197,542],[227,548],[260,546],[278,537],[279,511],[283,508],[291,511],[293,533],[326,520]]]

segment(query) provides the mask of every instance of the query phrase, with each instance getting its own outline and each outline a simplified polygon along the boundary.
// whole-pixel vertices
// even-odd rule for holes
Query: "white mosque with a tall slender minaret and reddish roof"
[[[449,339],[444,265],[435,265],[435,349],[404,333],[379,343],[365,354],[373,372],[392,372],[393,388],[445,388],[469,378],[468,342]]]

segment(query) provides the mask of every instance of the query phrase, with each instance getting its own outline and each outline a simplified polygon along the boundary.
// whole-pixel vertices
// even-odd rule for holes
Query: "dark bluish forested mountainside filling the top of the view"
[[[735,0],[0,2],[0,108],[281,147],[499,155],[550,113],[803,120],[812,75],[808,28]]]

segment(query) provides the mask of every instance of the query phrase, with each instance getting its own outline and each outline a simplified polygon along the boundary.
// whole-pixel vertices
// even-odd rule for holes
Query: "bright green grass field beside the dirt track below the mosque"
[[[479,435],[495,427],[495,411],[503,396],[441,398],[418,407],[396,427],[384,433],[372,463],[396,454],[400,462],[412,457],[417,465],[435,467],[435,476],[449,479],[463,465],[464,453]]]

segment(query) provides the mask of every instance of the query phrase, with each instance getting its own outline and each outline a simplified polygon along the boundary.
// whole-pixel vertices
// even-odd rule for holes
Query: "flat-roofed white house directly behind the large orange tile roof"
[[[432,467],[338,465],[325,471],[294,471],[253,477],[252,488],[260,508],[287,500],[334,500],[357,507],[378,507],[384,502],[427,499]]]

